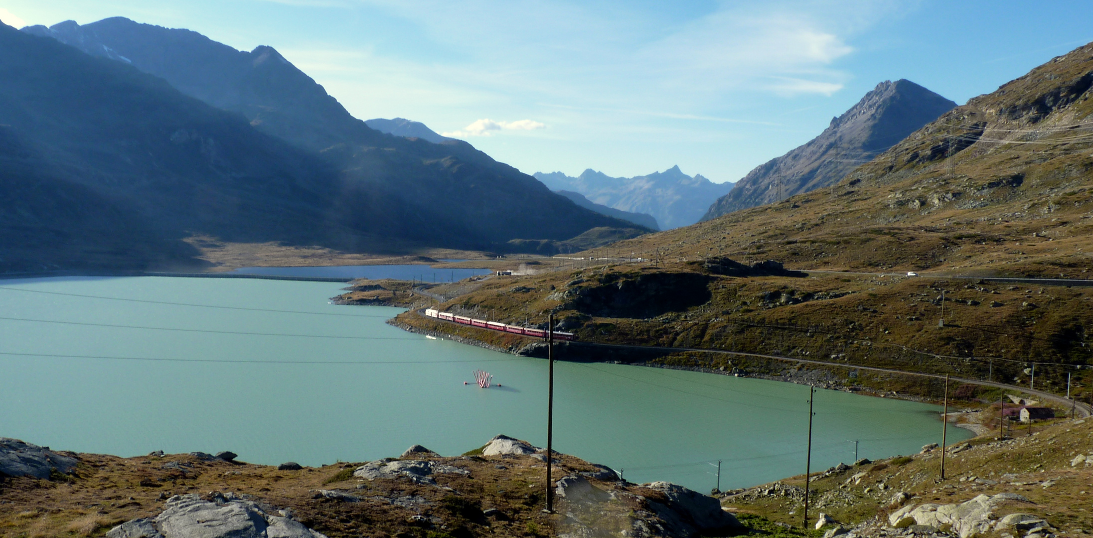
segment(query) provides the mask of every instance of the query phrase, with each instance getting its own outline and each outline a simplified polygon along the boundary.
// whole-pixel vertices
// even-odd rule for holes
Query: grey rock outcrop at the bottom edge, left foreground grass
[[[106,533],[107,538],[326,538],[272,507],[235,493],[175,495],[154,519],[132,519]]]

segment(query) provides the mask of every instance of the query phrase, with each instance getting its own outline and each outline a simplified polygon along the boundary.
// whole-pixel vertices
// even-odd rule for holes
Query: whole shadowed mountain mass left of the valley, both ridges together
[[[270,47],[244,52],[121,17],[22,33],[0,25],[0,69],[5,190],[39,194],[36,202],[12,195],[0,209],[40,215],[9,219],[22,227],[4,236],[22,234],[45,256],[4,256],[9,268],[67,267],[43,254],[60,237],[97,241],[87,248],[99,253],[126,244],[86,232],[91,221],[148,246],[140,260],[101,256],[127,267],[185,257],[177,239],[197,233],[362,252],[504,249],[515,238],[635,227],[466,142],[373,130]],[[92,199],[102,200],[101,219]]]

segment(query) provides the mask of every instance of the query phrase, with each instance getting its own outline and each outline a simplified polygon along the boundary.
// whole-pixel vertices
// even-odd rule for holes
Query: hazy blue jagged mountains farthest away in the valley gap
[[[698,222],[714,200],[733,188],[731,183],[713,183],[698,174],[689,176],[679,166],[635,177],[611,177],[591,168],[577,177],[561,172],[533,175],[555,191],[580,192],[593,203],[651,214],[661,230]]]

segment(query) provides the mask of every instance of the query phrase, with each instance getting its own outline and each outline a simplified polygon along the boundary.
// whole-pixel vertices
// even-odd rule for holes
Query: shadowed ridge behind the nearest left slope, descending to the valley
[[[493,248],[512,238],[566,239],[628,223],[579,208],[461,141],[432,143],[368,128],[271,47],[238,51],[196,32],[114,17],[25,32],[161,77],[242,114],[259,131],[318,152],[337,171],[327,221],[418,245]],[[320,166],[324,167],[324,166]],[[343,237],[342,248],[375,243]]]

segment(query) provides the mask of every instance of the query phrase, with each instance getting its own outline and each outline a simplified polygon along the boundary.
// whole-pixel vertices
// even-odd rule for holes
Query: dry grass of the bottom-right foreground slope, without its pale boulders
[[[910,461],[902,466],[891,465],[900,458],[890,458],[826,478],[820,478],[822,471],[818,472],[810,483],[810,514],[814,517],[824,512],[841,522],[857,523],[877,515],[885,516],[894,510],[889,501],[901,491],[913,493],[909,502],[918,504],[960,503],[978,494],[1013,492],[1032,503],[1008,502],[997,513],[999,516],[1031,513],[1061,529],[1063,536],[1093,534],[1093,511],[1086,502],[1089,492],[1093,491],[1093,466],[1070,466],[1077,454],[1093,453],[1093,421],[1058,420],[1037,424],[1033,433],[1027,435],[1022,426],[1012,432],[1012,441],[1003,444],[997,443],[992,435],[971,440],[968,443],[975,448],[947,457],[944,481],[939,480],[940,451],[937,449],[926,455],[912,455]],[[859,472],[865,472],[859,483],[853,480],[846,483]],[[969,480],[973,478],[983,481]],[[804,477],[781,482],[803,487]],[[879,488],[882,483],[884,489]],[[834,501],[841,495],[853,499],[853,503]],[[730,495],[724,504],[742,513],[794,525],[800,525],[803,508],[802,503],[779,496]]]

